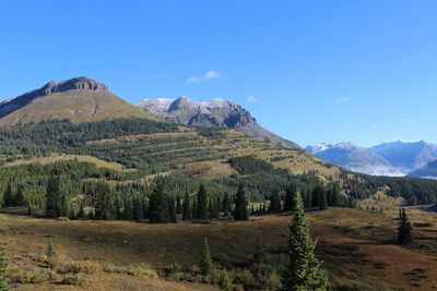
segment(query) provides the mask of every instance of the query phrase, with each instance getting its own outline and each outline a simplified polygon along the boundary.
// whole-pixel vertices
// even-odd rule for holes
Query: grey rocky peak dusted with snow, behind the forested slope
[[[269,138],[291,148],[299,145],[263,129],[241,106],[223,99],[198,102],[187,97],[145,99],[138,104],[146,113],[173,123],[235,129],[251,137]]]

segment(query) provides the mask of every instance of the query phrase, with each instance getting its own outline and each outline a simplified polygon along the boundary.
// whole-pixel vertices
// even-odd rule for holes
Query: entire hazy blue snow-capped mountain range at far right
[[[353,143],[317,144],[306,149],[345,169],[376,175],[437,178],[437,145],[397,141],[373,147]]]

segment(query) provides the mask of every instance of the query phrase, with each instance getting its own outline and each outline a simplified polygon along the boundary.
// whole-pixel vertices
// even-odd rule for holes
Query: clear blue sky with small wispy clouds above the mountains
[[[303,146],[437,142],[437,1],[0,2],[0,98],[86,75],[222,97]]]

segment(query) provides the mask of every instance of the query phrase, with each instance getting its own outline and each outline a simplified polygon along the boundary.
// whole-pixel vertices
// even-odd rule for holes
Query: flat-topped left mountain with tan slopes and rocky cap
[[[39,89],[0,104],[0,125],[38,122],[47,119],[94,121],[106,118],[152,117],[85,76],[50,81]]]

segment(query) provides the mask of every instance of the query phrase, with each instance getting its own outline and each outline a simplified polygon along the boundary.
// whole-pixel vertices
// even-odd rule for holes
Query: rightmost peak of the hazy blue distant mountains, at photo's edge
[[[437,145],[424,141],[385,143],[370,147],[370,150],[408,172],[437,159]]]

